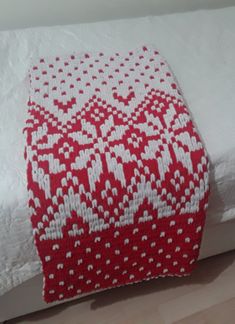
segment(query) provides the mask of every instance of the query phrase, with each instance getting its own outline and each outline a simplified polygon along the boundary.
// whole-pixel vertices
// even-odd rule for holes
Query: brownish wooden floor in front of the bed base
[[[7,323],[235,324],[235,252],[200,261],[191,277],[117,288]]]

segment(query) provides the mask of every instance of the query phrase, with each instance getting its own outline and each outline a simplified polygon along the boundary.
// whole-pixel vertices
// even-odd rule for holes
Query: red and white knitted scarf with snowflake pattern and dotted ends
[[[28,114],[29,206],[47,302],[191,273],[208,158],[156,50],[40,59]]]

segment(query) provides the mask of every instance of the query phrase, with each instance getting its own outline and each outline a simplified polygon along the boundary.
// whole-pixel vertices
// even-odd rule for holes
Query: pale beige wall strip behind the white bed
[[[0,30],[235,6],[235,0],[0,0]]]

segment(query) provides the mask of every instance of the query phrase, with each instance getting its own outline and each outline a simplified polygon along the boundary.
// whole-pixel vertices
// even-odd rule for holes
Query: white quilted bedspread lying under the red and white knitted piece
[[[171,65],[211,159],[207,223],[235,218],[235,7],[0,33],[0,295],[40,273],[24,139],[32,57],[152,44]]]

